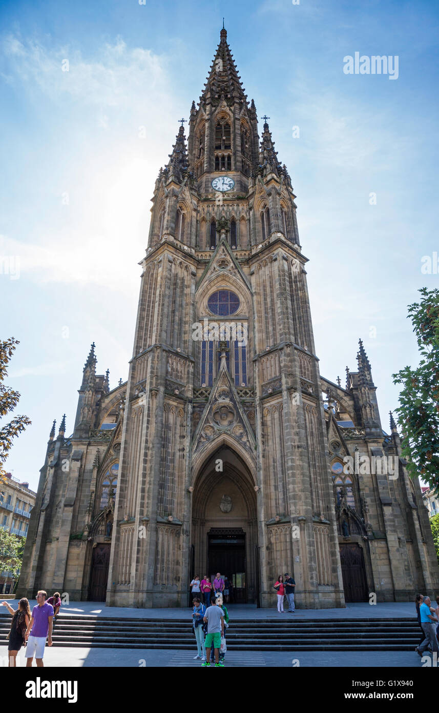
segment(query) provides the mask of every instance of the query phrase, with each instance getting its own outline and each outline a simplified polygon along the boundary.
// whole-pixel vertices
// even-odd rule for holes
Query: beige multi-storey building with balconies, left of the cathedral
[[[28,483],[20,483],[11,473],[6,473],[0,481],[0,527],[11,535],[26,537],[29,518],[35,505],[36,493],[30,490]],[[0,573],[0,594],[9,594],[16,583],[10,573]]]

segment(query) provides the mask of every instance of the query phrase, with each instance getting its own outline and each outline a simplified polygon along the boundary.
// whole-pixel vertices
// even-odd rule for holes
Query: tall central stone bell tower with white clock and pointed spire
[[[152,198],[110,605],[186,605],[218,570],[241,601],[289,570],[308,607],[344,605],[307,259],[263,119],[222,29]]]

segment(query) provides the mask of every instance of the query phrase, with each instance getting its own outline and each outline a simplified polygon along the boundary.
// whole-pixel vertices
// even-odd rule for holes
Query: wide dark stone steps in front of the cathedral
[[[292,615],[291,615],[292,616]],[[0,645],[11,619],[0,615]],[[231,622],[226,638],[236,651],[412,651],[420,640],[413,619],[252,620]],[[193,650],[195,637],[185,619],[136,619],[61,615],[53,625],[53,646]]]

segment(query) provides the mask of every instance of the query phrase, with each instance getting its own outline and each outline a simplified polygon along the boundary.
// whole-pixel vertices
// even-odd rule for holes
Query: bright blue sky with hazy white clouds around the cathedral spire
[[[322,374],[344,382],[362,337],[387,429],[391,374],[418,359],[407,305],[439,281],[421,273],[439,252],[435,1],[3,1],[1,338],[21,342],[7,383],[32,420],[6,467],[31,487],[93,340],[110,386],[127,378],[154,180],[223,16],[292,176]],[[346,75],[356,51],[398,56],[398,79]]]

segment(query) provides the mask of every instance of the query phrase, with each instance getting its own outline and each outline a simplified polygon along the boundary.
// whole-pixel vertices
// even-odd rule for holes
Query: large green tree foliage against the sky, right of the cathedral
[[[402,453],[408,472],[419,476],[430,488],[439,484],[439,289],[423,287],[420,302],[410,304],[421,361],[417,369],[406,366],[393,374],[402,384],[398,423],[403,432]]]

